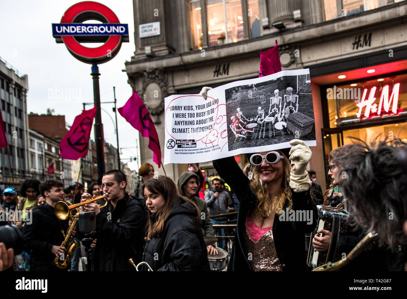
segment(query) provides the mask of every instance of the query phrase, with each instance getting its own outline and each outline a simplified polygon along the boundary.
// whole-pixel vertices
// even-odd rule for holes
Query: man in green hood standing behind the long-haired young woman
[[[208,207],[203,199],[196,196],[200,187],[200,179],[194,172],[183,172],[178,179],[178,192],[194,201],[201,211],[200,224],[204,236],[215,236],[212,227],[212,221],[209,218]],[[210,255],[218,254],[218,251],[212,245],[206,247]]]

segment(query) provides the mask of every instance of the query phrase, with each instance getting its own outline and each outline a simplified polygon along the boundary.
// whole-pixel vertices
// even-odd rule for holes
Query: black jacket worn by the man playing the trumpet
[[[138,199],[126,194],[114,210],[109,202],[96,216],[93,271],[135,271],[129,263],[141,262],[144,244],[144,210]]]

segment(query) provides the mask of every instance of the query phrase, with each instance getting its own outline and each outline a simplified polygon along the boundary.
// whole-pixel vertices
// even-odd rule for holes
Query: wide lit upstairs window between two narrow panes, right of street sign
[[[241,0],[206,0],[209,46],[240,41],[244,37]],[[226,14],[226,20],[225,20]]]

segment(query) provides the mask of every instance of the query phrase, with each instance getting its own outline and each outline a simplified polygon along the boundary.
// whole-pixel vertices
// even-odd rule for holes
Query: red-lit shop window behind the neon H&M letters
[[[392,102],[390,103],[389,107],[387,107],[388,111],[385,111],[386,105],[383,105],[385,104],[385,100],[383,100],[380,113],[378,113],[377,110],[380,106],[381,95],[383,94],[384,96],[387,96],[388,91],[388,99],[390,100],[393,92],[393,87],[396,83],[400,83],[395,113],[399,114],[401,112],[407,111],[407,74],[368,80],[358,83],[355,82],[348,85],[335,85],[327,88],[326,98],[328,102],[330,128],[340,126],[341,124],[349,124],[351,122],[359,121],[360,119],[366,118],[364,116],[366,107],[362,107],[362,110],[360,111],[361,115],[358,117],[357,113],[359,113],[359,107],[357,106],[357,103],[362,100],[363,92],[365,89],[365,100],[367,100],[369,98],[370,92],[373,90],[372,88],[374,87],[376,87],[374,93],[374,97],[376,98],[376,100],[374,100],[371,105],[368,117],[387,117],[388,115],[394,114],[392,112],[394,98],[392,98]],[[385,90],[382,93],[383,87],[385,88]]]

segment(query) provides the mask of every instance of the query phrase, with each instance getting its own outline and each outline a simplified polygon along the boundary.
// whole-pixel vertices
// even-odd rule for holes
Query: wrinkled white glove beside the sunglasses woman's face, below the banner
[[[303,192],[308,190],[312,184],[308,172],[305,170],[309,160],[311,160],[312,153],[302,140],[293,139],[290,144],[293,145],[289,152],[289,159],[291,160],[290,187],[294,192]]]

